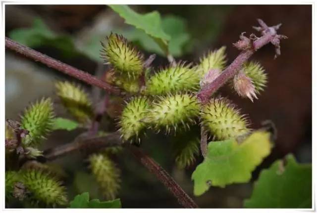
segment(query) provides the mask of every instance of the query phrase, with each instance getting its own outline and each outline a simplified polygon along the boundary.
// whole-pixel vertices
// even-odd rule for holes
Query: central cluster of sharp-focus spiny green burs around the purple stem
[[[124,141],[140,141],[147,128],[177,133],[197,122],[205,126],[213,140],[250,132],[247,117],[228,99],[217,96],[203,105],[197,98],[199,89],[224,70],[224,46],[204,55],[198,64],[176,62],[157,72],[145,66],[143,54],[120,35],[108,36],[103,47],[102,57],[112,68],[108,82],[132,96],[119,121]],[[253,101],[264,89],[266,79],[262,66],[249,62],[229,85]]]

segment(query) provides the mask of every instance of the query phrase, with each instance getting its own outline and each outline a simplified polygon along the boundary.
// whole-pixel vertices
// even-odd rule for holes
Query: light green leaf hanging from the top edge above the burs
[[[170,36],[162,28],[161,18],[158,11],[146,14],[139,14],[127,5],[109,5],[116,13],[125,19],[125,23],[133,25],[137,29],[143,30],[151,36],[164,51],[168,54],[168,41]]]

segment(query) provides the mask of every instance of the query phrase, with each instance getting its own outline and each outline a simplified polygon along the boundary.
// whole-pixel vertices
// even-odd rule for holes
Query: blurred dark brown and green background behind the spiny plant
[[[288,36],[281,43],[282,55],[273,60],[274,48],[266,45],[253,59],[258,60],[268,73],[268,85],[255,103],[239,98],[227,88],[221,94],[232,99],[244,113],[250,114],[253,128],[271,120],[277,128],[277,140],[272,154],[254,171],[267,168],[274,160],[287,153],[294,153],[299,162],[312,161],[312,7],[310,5],[131,5],[140,12],[159,11],[164,31],[172,36],[171,53],[177,60],[198,62],[209,49],[227,46],[228,62],[239,53],[232,46],[241,32],[255,33],[252,26],[256,18],[267,24],[283,23],[280,33]],[[5,35],[24,43],[53,58],[59,59],[91,74],[101,76],[106,70],[99,57],[100,41],[110,32],[122,33],[135,43],[146,56],[157,53],[155,68],[168,64],[158,45],[143,32],[126,25],[106,5],[6,5]],[[22,110],[42,96],[52,96],[55,112],[67,117],[54,94],[54,81],[71,79],[48,67],[14,54],[5,52],[5,117],[18,119]],[[77,82],[77,81],[76,81]],[[83,85],[92,93],[96,102],[98,88]],[[103,129],[114,130],[114,113],[105,117]],[[112,116],[111,116],[112,115]],[[45,148],[71,142],[80,129],[55,131],[45,143]],[[198,135],[198,129],[180,135]],[[183,189],[193,196],[190,176],[195,165],[186,170],[174,164],[171,140],[173,136],[148,133],[142,147]],[[100,198],[98,186],[90,175],[85,153],[55,160],[67,185],[69,198],[89,191],[92,198]],[[162,184],[124,151],[115,158],[122,170],[121,198],[123,208],[179,208],[179,204]],[[202,158],[197,159],[200,163]],[[194,197],[201,208],[241,208],[243,199],[250,197],[252,182],[233,184],[226,188],[211,187],[200,197]]]

